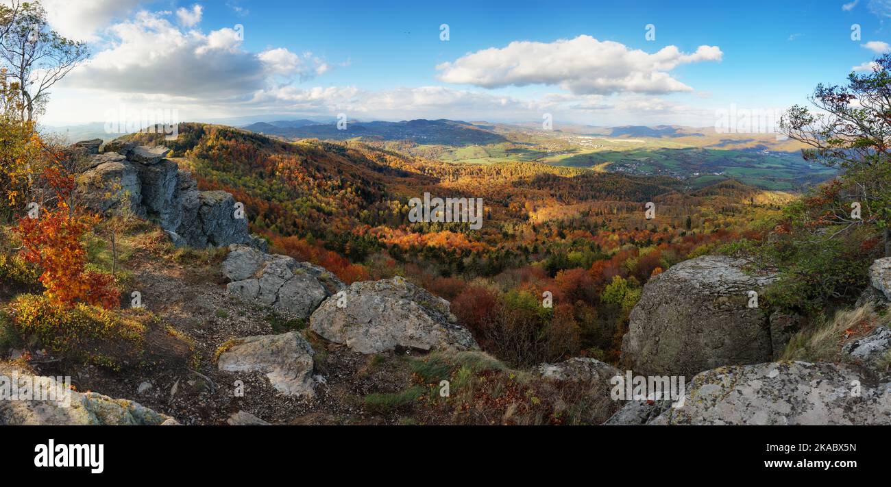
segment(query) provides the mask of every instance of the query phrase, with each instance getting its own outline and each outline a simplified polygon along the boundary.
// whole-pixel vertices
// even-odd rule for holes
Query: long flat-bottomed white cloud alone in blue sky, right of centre
[[[576,94],[671,93],[692,91],[668,71],[681,64],[721,61],[721,49],[700,45],[682,53],[668,45],[657,53],[629,49],[590,36],[552,43],[515,41],[503,48],[469,53],[437,66],[446,83],[498,88],[508,85],[560,85]]]

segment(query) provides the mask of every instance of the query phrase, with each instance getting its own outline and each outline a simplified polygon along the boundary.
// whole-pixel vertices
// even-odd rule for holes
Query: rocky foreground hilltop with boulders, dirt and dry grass
[[[94,145],[78,149],[91,161],[81,184],[126,184],[140,197],[113,204],[158,222],[130,232],[120,270],[150,321],[144,356],[106,368],[12,350],[0,372],[71,376],[78,394],[70,410],[0,402],[0,424],[891,424],[891,258],[835,328],[808,330],[753,305],[772,273],[697,257],[643,288],[623,341],[630,370],[590,358],[516,370],[402,278],[347,286],[267,253],[230,215],[231,195],[196,191],[166,150]],[[616,397],[615,377],[637,374],[682,377],[683,406]]]

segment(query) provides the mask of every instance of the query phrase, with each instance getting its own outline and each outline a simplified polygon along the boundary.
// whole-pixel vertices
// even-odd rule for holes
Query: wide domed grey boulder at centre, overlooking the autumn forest
[[[394,278],[351,284],[326,299],[309,323],[319,336],[360,353],[478,349],[470,331],[454,321],[448,301]]]

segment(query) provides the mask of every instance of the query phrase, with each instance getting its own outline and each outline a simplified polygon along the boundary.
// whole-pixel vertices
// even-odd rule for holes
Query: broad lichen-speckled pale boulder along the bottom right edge
[[[683,406],[650,425],[891,425],[891,383],[832,363],[768,362],[707,370]]]

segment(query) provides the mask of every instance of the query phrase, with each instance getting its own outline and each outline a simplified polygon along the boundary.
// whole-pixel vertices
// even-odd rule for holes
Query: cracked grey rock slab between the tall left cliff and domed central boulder
[[[223,275],[232,282],[226,292],[307,319],[323,300],[345,288],[334,274],[289,256],[269,255],[245,245],[232,245]]]

